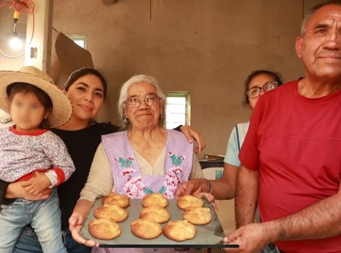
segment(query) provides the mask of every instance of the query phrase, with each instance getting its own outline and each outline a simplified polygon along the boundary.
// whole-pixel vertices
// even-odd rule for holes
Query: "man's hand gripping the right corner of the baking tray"
[[[238,244],[239,248],[225,248],[229,253],[258,253],[271,242],[271,233],[267,223],[251,223],[229,233],[224,238],[225,244]]]

